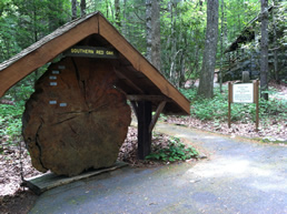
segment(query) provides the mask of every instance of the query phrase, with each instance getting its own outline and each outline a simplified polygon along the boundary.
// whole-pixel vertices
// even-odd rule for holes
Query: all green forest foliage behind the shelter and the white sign
[[[78,1],[79,2],[79,1]],[[200,3],[201,2],[201,3]],[[221,8],[219,7],[219,10]],[[101,11],[115,23],[115,1],[87,1],[87,13]],[[256,0],[225,1],[226,40],[229,45],[238,33],[260,11]],[[280,33],[277,44],[286,44],[286,2],[279,2],[275,22]],[[78,13],[80,13],[78,8]],[[221,11],[219,11],[221,14]],[[69,0],[1,0],[0,1],[0,62],[19,53],[22,49],[49,34],[58,27],[70,21],[71,2]],[[121,27],[118,30],[141,52],[146,52],[146,1],[120,1]],[[271,32],[273,24],[269,24]],[[220,27],[220,26],[219,26]],[[221,27],[220,27],[221,28]],[[206,1],[160,1],[161,71],[177,86],[185,79],[198,78],[205,43]],[[271,39],[271,38],[270,38]],[[247,45],[247,44],[246,44]],[[247,47],[250,50],[250,47]],[[249,51],[250,52],[250,51]],[[247,52],[245,52],[246,54]],[[253,52],[250,52],[251,54]],[[0,108],[0,134],[10,135],[10,140],[20,133],[20,118],[24,102],[33,91],[34,81],[44,68],[38,69],[7,92],[8,100],[16,105]],[[192,101],[191,114],[201,120],[222,121],[227,119],[227,92],[211,100],[196,98],[196,90],[181,90]],[[270,92],[271,93],[271,92]],[[270,99],[260,101],[260,118],[277,115],[286,118],[286,103]],[[232,104],[232,120],[255,118],[254,104]]]

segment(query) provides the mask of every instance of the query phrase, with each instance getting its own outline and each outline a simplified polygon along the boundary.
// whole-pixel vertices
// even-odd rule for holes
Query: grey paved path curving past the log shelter
[[[287,147],[180,126],[157,130],[192,142],[198,163],[125,167],[43,193],[30,213],[287,213]]]

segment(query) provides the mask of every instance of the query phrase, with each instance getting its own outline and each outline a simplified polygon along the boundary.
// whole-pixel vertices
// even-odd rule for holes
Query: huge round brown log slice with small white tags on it
[[[26,103],[23,137],[32,165],[58,175],[115,164],[131,121],[110,63],[66,58],[51,64]]]

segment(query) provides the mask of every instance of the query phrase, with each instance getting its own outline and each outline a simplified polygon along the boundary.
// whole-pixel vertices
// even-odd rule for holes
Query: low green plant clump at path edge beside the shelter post
[[[148,160],[157,160],[165,162],[185,161],[191,157],[197,157],[198,152],[192,146],[187,146],[180,142],[178,137],[168,140],[167,147],[155,147],[155,152],[146,156]]]

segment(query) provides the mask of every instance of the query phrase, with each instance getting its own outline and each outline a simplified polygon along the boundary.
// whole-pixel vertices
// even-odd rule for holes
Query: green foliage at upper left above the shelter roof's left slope
[[[69,21],[68,11],[69,0],[1,0],[0,62]]]

